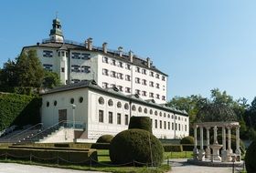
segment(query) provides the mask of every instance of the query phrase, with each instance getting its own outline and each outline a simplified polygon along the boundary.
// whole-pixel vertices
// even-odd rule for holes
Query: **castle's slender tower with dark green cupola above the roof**
[[[53,42],[63,43],[64,36],[62,35],[60,20],[57,17],[52,21],[49,37]]]

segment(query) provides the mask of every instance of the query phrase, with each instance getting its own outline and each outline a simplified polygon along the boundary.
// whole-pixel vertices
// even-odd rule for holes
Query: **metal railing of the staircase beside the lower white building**
[[[29,138],[27,142],[33,142],[33,141],[38,141],[39,139],[42,139],[44,137],[47,137],[49,134],[52,132],[55,132],[58,130],[60,127],[65,127],[65,128],[74,128],[74,129],[85,129],[86,126],[84,123],[81,123],[79,121],[73,122],[73,121],[60,121],[59,123],[56,123],[52,125],[51,127],[47,127],[44,130],[38,132],[36,135],[33,137]]]

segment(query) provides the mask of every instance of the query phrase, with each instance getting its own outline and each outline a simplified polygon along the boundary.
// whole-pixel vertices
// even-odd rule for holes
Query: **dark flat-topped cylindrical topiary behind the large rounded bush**
[[[144,129],[144,130],[152,133],[150,117],[131,117],[128,128],[129,129],[133,129],[133,128]]]

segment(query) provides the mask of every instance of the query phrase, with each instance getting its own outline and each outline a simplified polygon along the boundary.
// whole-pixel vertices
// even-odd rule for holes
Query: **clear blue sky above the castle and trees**
[[[168,99],[256,96],[256,1],[242,0],[3,0],[0,66],[23,46],[48,38],[59,12],[66,39],[108,42],[151,57],[169,75]]]

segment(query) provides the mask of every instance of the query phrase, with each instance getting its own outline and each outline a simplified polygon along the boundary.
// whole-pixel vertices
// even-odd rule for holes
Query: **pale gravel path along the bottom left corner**
[[[0,163],[0,173],[96,173],[96,171],[48,168],[16,163]]]

